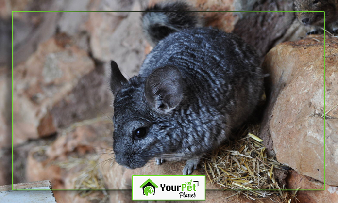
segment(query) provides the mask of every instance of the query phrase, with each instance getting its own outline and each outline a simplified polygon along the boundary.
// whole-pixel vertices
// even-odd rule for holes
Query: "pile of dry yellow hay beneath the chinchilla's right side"
[[[283,203],[297,203],[296,191],[282,191],[285,186],[276,181],[276,169],[288,167],[278,163],[275,157],[267,156],[262,140],[256,136],[258,130],[259,125],[243,127],[236,133],[240,137],[238,140],[230,141],[208,155],[209,160],[202,163],[207,182],[218,184],[225,190],[237,190],[229,197],[244,193],[248,199],[270,198],[280,202],[273,198],[274,194]]]

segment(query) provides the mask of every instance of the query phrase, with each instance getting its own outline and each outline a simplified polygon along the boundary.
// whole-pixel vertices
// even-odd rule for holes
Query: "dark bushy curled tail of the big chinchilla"
[[[203,20],[183,1],[158,3],[142,14],[142,27],[150,44],[154,47],[172,32],[186,28],[201,27]]]

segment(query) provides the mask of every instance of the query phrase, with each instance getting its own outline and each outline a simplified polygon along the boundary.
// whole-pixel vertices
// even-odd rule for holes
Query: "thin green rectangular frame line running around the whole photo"
[[[65,13],[65,12],[144,12],[144,11],[12,11],[12,190],[13,191],[131,191],[131,189],[13,189],[13,13]],[[325,11],[191,11],[191,12],[238,12],[238,13],[323,13],[324,14],[324,115],[325,115]],[[206,182],[205,182],[206,183]],[[133,184],[133,183],[132,183]],[[324,116],[324,189],[206,189],[206,191],[324,191],[325,190],[325,116]]]

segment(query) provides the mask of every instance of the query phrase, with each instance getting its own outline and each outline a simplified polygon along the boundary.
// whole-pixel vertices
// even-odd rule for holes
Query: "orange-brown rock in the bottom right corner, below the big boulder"
[[[287,189],[324,189],[324,184],[291,170]],[[300,203],[337,203],[338,187],[325,185],[325,191],[297,191]]]

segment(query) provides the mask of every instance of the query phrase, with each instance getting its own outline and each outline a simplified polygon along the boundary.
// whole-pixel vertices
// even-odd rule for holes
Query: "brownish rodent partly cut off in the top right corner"
[[[295,11],[325,11],[325,28],[338,33],[338,0],[295,0]],[[300,23],[310,26],[307,34],[323,33],[324,14],[322,12],[297,12]]]

